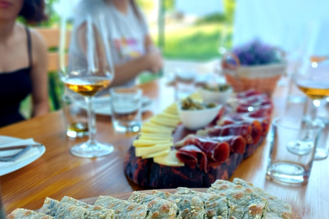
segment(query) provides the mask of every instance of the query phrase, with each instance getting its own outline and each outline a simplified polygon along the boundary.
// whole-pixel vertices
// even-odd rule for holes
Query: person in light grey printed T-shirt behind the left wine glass
[[[134,0],[83,0],[75,11],[69,53],[82,60],[79,31],[86,22],[86,14],[104,14],[115,70],[111,86],[134,85],[138,73],[145,70],[158,73],[162,68],[160,52],[154,47],[147,23]]]

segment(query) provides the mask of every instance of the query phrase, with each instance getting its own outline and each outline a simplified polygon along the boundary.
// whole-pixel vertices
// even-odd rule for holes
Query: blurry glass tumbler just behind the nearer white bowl
[[[196,71],[178,69],[175,71],[175,100],[184,99],[195,92]]]

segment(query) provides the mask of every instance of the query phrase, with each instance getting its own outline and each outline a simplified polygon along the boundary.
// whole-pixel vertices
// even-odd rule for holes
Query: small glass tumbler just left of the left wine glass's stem
[[[66,136],[70,138],[83,138],[88,136],[88,117],[84,98],[73,94],[64,95],[62,97],[62,109]]]

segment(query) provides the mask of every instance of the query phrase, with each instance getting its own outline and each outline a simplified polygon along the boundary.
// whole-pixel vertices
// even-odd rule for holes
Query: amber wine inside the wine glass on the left
[[[108,87],[111,80],[107,77],[73,77],[64,80],[64,84],[83,96],[94,96],[99,90]]]

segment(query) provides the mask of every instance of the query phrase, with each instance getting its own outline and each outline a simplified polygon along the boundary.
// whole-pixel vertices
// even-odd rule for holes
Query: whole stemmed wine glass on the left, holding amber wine
[[[60,79],[69,90],[84,96],[88,112],[87,142],[75,144],[71,153],[78,157],[101,157],[112,153],[113,146],[95,140],[93,97],[108,88],[114,78],[109,35],[103,14],[84,14],[85,19],[74,21],[62,16],[60,22]],[[71,42],[66,37],[73,26]],[[69,44],[69,55],[66,48]]]

